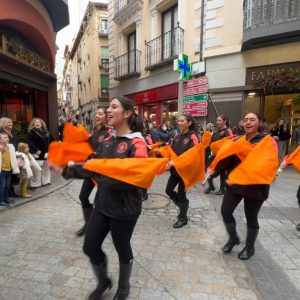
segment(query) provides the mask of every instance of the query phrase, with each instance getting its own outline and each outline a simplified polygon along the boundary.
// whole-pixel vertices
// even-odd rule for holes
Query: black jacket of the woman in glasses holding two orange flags
[[[260,133],[249,142],[251,144],[258,144],[265,136],[266,134]],[[241,161],[236,155],[232,155],[230,157],[221,160],[215,169],[214,177],[218,176],[224,170],[226,170],[227,174],[229,174],[240,163]],[[263,200],[267,200],[269,197],[270,185],[269,184],[252,184],[252,185],[233,184],[230,186],[227,185],[227,189],[243,197],[247,197],[253,200],[263,201]]]

